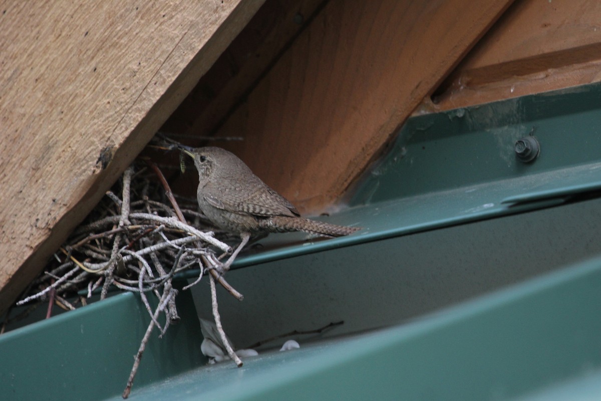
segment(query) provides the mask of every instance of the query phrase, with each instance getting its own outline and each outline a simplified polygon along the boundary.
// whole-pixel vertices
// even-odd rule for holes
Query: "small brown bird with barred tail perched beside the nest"
[[[361,230],[302,218],[296,207],[269,188],[236,155],[218,147],[185,148],[198,169],[197,199],[204,215],[222,230],[240,234],[242,243],[228,262],[227,270],[251,234],[305,231],[340,237]]]

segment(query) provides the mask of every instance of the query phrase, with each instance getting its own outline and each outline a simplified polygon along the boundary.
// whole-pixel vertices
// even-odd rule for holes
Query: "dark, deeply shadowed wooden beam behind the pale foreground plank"
[[[325,2],[266,0],[161,130],[213,135]]]

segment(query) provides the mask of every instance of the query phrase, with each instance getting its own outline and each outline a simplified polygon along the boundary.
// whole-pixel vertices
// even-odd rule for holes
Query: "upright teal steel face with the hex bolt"
[[[415,197],[510,180],[508,196],[564,186],[601,186],[601,85],[518,97],[410,118],[350,204]],[[515,142],[534,135],[540,156],[520,162]],[[588,166],[581,170],[564,169]],[[554,179],[552,174],[559,173]],[[540,175],[541,180],[536,177]],[[569,180],[564,183],[563,180]],[[523,180],[523,183],[520,183]]]

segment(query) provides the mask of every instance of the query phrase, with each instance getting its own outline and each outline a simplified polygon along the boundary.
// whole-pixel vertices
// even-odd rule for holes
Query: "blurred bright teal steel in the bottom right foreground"
[[[528,399],[601,375],[600,294],[596,259],[397,328],[267,353],[242,369],[195,369],[132,400]],[[600,390],[575,388],[566,400]]]

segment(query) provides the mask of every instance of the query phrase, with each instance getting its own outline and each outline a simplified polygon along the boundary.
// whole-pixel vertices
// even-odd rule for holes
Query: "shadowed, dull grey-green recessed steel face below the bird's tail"
[[[222,322],[240,347],[340,320],[317,338],[401,324],[601,255],[600,221],[597,198],[259,263],[228,273],[245,299],[224,293]],[[207,286],[194,295],[210,319]]]

